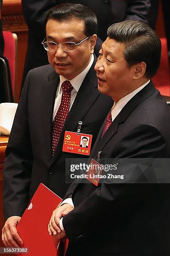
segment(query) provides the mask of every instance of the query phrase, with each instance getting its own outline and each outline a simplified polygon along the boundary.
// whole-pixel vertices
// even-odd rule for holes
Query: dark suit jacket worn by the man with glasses
[[[29,72],[6,149],[5,218],[23,214],[40,182],[60,197],[65,195],[70,185],[65,183],[65,158],[85,157],[62,152],[65,131],[77,131],[78,122],[82,121],[81,132],[92,134],[93,146],[113,105],[110,97],[97,90],[94,65],[95,61],[80,86],[53,157],[52,113],[59,76],[50,65]],[[82,107],[84,97],[86,104]]]

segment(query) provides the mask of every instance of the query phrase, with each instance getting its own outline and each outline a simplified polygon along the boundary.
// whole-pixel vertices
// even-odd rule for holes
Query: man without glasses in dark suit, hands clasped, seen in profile
[[[162,166],[163,158],[170,158],[170,109],[150,82],[159,67],[160,39],[138,21],[113,24],[107,35],[95,70],[99,91],[115,104],[90,158],[98,155],[101,164],[100,158],[106,164],[111,158],[125,179],[106,179],[97,186],[76,180],[65,196],[67,202],[52,213],[48,231],[55,245],[69,238],[67,256],[168,256],[170,185],[158,183],[169,176],[169,166],[167,172]],[[160,172],[153,168],[155,158]],[[141,167],[130,159],[140,159]]]

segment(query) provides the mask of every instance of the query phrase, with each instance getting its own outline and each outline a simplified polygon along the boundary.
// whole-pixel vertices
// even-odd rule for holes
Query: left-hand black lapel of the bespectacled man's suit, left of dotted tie
[[[57,85],[59,84],[59,76],[53,71],[48,76],[48,82],[42,85],[42,97],[41,97],[41,108],[42,108],[42,132],[43,139],[45,141],[45,147],[47,150],[47,159],[51,160],[52,157],[52,114],[55,102],[55,95]]]

